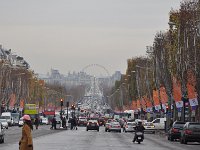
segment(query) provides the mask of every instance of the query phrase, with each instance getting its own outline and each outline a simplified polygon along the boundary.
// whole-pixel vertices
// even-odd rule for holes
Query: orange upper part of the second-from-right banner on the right
[[[175,102],[181,101],[181,84],[176,80],[176,78],[173,78],[173,96]]]

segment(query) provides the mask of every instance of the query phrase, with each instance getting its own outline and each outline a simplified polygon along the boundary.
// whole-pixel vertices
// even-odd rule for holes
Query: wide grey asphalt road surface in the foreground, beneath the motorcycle
[[[199,143],[184,145],[170,142],[164,135],[157,134],[145,134],[143,143],[132,143],[133,133],[105,132],[104,127],[101,127],[99,132],[86,131],[85,127],[61,132],[49,131],[44,127],[34,131],[33,134],[36,137],[33,140],[34,150],[198,150],[200,148]],[[17,143],[2,144],[0,150],[13,150],[17,147]]]

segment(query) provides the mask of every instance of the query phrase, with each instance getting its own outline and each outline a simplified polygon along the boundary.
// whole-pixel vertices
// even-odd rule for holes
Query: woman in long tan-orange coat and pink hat
[[[19,150],[33,150],[33,139],[31,130],[33,125],[29,115],[23,116],[24,125],[22,127],[22,137],[19,141]]]

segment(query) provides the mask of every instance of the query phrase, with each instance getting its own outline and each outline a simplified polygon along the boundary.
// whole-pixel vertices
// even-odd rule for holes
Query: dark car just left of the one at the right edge
[[[184,125],[185,125],[185,122],[175,121],[172,124],[172,127],[169,129],[168,140],[174,141],[175,139],[180,139],[180,136],[181,136],[180,131],[183,129]]]

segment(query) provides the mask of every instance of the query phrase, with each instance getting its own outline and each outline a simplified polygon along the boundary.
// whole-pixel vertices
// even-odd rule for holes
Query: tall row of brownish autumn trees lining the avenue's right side
[[[147,46],[146,56],[128,59],[126,74],[116,82],[112,93],[126,83],[129,94],[128,100],[121,99],[124,105],[131,106],[132,100],[143,96],[147,96],[153,104],[153,90],[159,91],[162,86],[166,89],[169,105],[174,104],[174,78],[181,84],[182,97],[187,98],[188,82],[200,95],[199,0],[182,1],[179,10],[170,11],[168,31],[156,33],[153,44]],[[111,100],[116,101],[110,102],[113,109],[121,107],[113,95]],[[196,119],[199,120],[199,107],[196,113]]]

